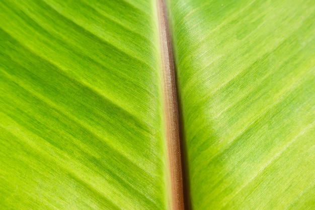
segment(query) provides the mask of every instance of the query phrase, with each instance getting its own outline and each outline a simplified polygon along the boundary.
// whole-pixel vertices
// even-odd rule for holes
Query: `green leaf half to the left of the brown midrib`
[[[0,209],[165,209],[155,1],[0,1]]]

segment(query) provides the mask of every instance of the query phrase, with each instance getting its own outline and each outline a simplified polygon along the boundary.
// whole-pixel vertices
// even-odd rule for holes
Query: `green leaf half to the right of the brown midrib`
[[[192,209],[315,209],[314,1],[169,8]]]

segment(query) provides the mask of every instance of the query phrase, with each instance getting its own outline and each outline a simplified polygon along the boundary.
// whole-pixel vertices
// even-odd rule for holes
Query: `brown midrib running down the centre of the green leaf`
[[[157,9],[163,66],[166,144],[170,167],[170,207],[172,210],[184,210],[184,186],[175,64],[165,0],[157,0]]]

